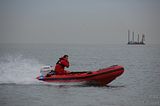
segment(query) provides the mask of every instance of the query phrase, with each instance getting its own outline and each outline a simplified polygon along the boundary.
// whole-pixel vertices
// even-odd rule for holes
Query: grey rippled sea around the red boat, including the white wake
[[[103,87],[36,80],[64,54],[67,70],[118,64],[125,72]],[[160,106],[160,46],[1,44],[0,106]]]

